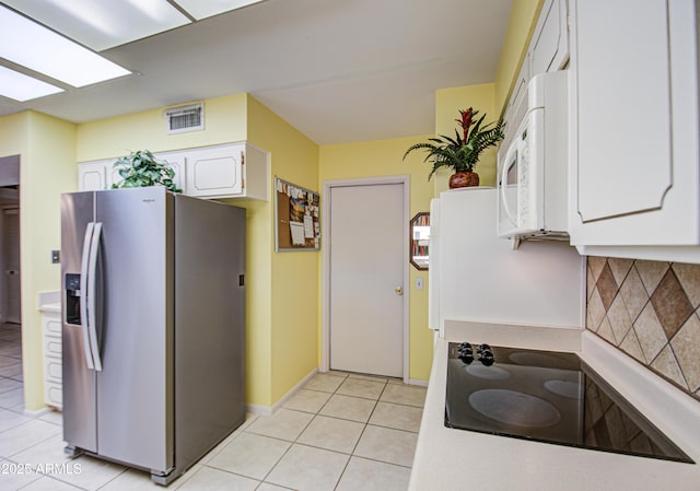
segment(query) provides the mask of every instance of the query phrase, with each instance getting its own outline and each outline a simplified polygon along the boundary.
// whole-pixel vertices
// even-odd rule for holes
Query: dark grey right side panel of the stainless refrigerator
[[[245,210],[175,196],[176,466],[245,420]]]

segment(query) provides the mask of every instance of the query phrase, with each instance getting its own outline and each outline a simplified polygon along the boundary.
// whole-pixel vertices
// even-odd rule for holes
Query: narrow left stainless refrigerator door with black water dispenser
[[[85,231],[93,219],[93,192],[61,196],[63,440],[69,447],[90,452],[97,451],[96,391],[81,324],[81,266]]]

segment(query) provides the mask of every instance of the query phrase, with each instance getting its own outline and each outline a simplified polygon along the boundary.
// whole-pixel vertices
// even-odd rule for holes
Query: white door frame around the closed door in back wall
[[[382,177],[364,177],[355,179],[334,179],[324,182],[325,199],[322,200],[322,230],[326,231],[326,237],[328,242],[330,239],[330,207],[331,207],[331,190],[334,187],[352,187],[352,186],[373,186],[385,184],[400,184],[404,188],[404,236],[406,237],[405,247],[401,250],[401,265],[402,265],[402,289],[401,295],[404,301],[402,315],[404,315],[404,329],[402,329],[402,351],[404,351],[404,382],[409,381],[409,313],[410,313],[410,284],[409,284],[409,250],[408,250],[408,237],[409,237],[409,211],[410,211],[410,176],[396,175],[396,176],[382,176]],[[328,242],[320,248],[322,260],[322,305],[320,305],[320,371],[328,372],[330,370],[330,247]]]

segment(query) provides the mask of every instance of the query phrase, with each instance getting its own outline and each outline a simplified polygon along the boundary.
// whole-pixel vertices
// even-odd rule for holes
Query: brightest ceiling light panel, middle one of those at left
[[[0,8],[0,58],[77,87],[131,73],[5,8]]]

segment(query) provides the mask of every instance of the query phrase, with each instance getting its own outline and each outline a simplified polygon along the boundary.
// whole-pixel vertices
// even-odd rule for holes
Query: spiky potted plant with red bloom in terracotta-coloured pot
[[[413,150],[423,149],[428,152],[423,162],[428,162],[431,157],[433,160],[433,168],[428,175],[428,179],[440,167],[448,167],[454,171],[450,177],[451,189],[478,186],[479,175],[474,172],[474,167],[479,162],[481,152],[503,140],[504,125],[502,119],[498,122],[483,125],[486,114],[476,119],[477,114],[479,112],[471,107],[459,110],[460,118],[455,120],[462,128],[462,132],[455,129],[455,138],[440,135],[436,138],[429,138],[428,142],[416,143],[406,151],[404,160]]]

